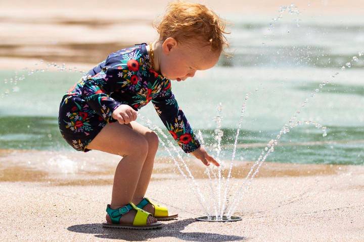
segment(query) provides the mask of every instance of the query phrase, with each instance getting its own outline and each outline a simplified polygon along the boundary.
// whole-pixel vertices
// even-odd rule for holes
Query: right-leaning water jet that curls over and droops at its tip
[[[320,125],[319,123],[313,122],[313,121],[305,121],[304,123],[301,121],[295,122],[295,123],[291,123],[290,127],[291,129],[300,126],[302,124],[307,124],[307,125],[314,125],[315,128],[317,129],[321,129],[324,133],[323,133],[323,137],[325,137],[327,135],[326,133],[326,127],[323,127],[322,125]],[[283,131],[283,134],[287,134],[290,132],[290,130],[288,128],[286,128],[287,126],[284,126],[282,128],[281,131]],[[280,133],[281,133],[280,131]],[[282,135],[277,135],[277,140],[281,138]],[[251,183],[251,180],[254,178],[254,176],[258,173],[260,166],[263,164],[263,162],[266,160],[267,156],[269,155],[269,153],[274,152],[274,147],[278,144],[277,140],[271,140],[268,144],[267,147],[265,148],[266,153],[264,154],[264,151],[262,151],[262,155],[264,154],[264,156],[260,155],[260,157],[258,158],[258,160],[254,163],[254,165],[252,166],[252,168],[250,169],[248,175],[246,176],[243,184],[240,186],[241,190],[240,192],[238,192],[235,196],[234,196],[234,202],[232,203],[232,205],[229,208],[229,211],[227,213],[226,216],[230,217],[232,214],[234,214],[234,212],[236,211],[238,204],[240,203],[240,200],[242,198],[242,195],[244,194],[244,185],[245,183],[248,181],[248,185],[247,187],[245,187],[245,190],[247,190],[249,188],[249,185]],[[255,169],[254,173],[251,175],[251,177],[249,178],[249,175],[251,174],[251,172],[254,170],[254,167],[257,166],[257,168]]]

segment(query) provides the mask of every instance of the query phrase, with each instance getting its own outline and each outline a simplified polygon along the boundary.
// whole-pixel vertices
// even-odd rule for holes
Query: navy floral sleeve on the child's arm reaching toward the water
[[[159,96],[152,99],[154,108],[173,139],[186,152],[190,153],[200,147],[184,112],[178,107],[171,91],[170,80],[166,80]]]

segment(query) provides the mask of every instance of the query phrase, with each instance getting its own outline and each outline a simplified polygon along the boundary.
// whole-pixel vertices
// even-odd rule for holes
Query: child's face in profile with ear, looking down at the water
[[[197,70],[207,70],[216,65],[219,53],[210,51],[210,46],[181,44],[167,38],[162,44],[160,59],[161,74],[170,80],[185,81]]]

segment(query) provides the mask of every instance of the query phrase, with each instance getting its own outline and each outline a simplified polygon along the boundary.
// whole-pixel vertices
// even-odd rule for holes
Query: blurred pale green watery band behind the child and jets
[[[364,58],[357,62],[352,59],[360,57],[358,51],[364,46],[362,26],[301,24],[297,28],[285,22],[275,31],[273,35],[266,32],[265,23],[237,24],[232,31],[233,58],[221,58],[217,67],[197,72],[191,80],[172,83],[178,104],[195,132],[202,130],[214,153],[214,117],[221,102],[221,158],[230,159],[241,105],[246,93],[251,93],[236,160],[255,160],[264,144],[274,139],[299,110],[298,120],[313,120],[328,127],[328,136],[323,137],[312,126],[297,127],[281,138],[281,145],[267,161],[363,164]],[[342,71],[340,67],[348,62],[351,68]],[[32,65],[25,67],[35,69]],[[336,73],[339,75],[333,78]],[[0,93],[9,91],[0,99],[0,149],[72,150],[58,131],[57,114],[63,93],[81,74],[53,71],[17,75],[24,75],[25,80],[14,85],[9,81],[14,71],[0,71],[0,80],[8,79],[0,86]],[[311,98],[326,81],[330,84]],[[308,103],[302,107],[306,99]],[[143,108],[141,114],[163,126],[152,105]],[[167,154],[160,149],[158,155]]]

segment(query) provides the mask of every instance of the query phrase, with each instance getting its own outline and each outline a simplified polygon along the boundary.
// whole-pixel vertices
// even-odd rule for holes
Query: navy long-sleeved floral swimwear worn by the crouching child
[[[150,101],[186,153],[200,147],[178,107],[170,80],[151,68],[145,43],[111,53],[63,96],[58,118],[62,137],[74,149],[87,152],[85,147],[102,128],[117,121],[112,113],[118,106],[138,110]]]

